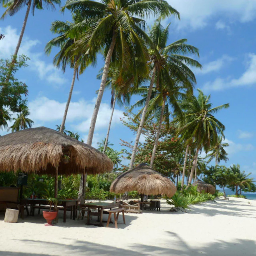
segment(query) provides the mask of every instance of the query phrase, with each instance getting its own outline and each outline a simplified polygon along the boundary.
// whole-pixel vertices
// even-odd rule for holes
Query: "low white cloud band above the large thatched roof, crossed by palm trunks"
[[[78,102],[70,102],[66,122],[79,132],[88,132],[90,128],[90,121],[94,109],[95,100]],[[58,102],[50,100],[46,97],[36,98],[36,100],[29,103],[30,118],[37,122],[60,122],[63,117],[66,102]],[[106,129],[110,119],[111,109],[109,104],[101,103],[100,110],[96,121],[95,130]],[[120,117],[123,116],[121,110],[116,109],[112,118],[111,126],[122,124]]]

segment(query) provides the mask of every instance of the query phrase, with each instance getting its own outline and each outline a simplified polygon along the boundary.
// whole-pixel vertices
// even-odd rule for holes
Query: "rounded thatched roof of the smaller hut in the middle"
[[[138,191],[145,195],[166,194],[171,197],[176,192],[175,185],[166,176],[156,172],[146,164],[122,173],[110,186],[110,192],[124,193]]]

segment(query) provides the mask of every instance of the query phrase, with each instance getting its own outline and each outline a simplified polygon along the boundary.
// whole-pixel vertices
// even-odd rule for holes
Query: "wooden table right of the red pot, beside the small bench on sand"
[[[95,226],[103,226],[102,224],[102,218],[103,218],[103,210],[105,209],[112,209],[119,207],[118,203],[106,203],[106,202],[98,202],[98,203],[88,203],[83,204],[83,206],[88,207],[87,211],[87,225],[95,225]],[[98,212],[91,212],[91,208],[98,208]],[[100,220],[100,224],[90,224],[90,216],[98,216],[98,219]]]

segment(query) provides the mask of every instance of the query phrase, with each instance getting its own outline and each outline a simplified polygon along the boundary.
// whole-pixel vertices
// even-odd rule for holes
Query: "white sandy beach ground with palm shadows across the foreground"
[[[0,256],[256,256],[256,200],[217,199],[188,213],[164,202],[161,212],[126,214],[118,229],[86,226],[86,218],[48,227],[37,214],[10,224],[2,214]]]

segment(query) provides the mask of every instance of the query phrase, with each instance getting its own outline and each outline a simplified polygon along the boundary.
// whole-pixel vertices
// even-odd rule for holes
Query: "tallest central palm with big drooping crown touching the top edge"
[[[65,8],[73,13],[79,12],[82,16],[83,21],[76,25],[78,30],[83,31],[88,22],[93,24],[79,40],[78,51],[86,53],[88,50],[98,52],[104,49],[105,65],[87,139],[87,144],[91,145],[112,56],[115,57],[112,61],[120,67],[120,76],[123,70],[132,68],[132,73],[138,75],[136,63],[145,66],[146,72],[148,52],[144,40],[149,40],[143,30],[143,19],[150,14],[163,17],[175,14],[179,17],[179,13],[162,0],[68,0],[63,10]]]

